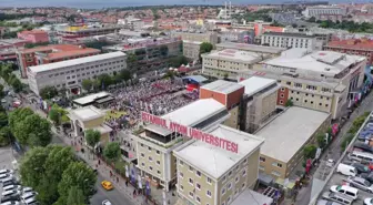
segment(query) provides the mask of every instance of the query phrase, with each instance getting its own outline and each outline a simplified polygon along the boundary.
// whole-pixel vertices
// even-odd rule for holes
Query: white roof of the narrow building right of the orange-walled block
[[[253,95],[272,84],[276,84],[276,81],[272,79],[251,76],[244,81],[241,81],[239,84],[244,86],[244,93],[246,95]]]

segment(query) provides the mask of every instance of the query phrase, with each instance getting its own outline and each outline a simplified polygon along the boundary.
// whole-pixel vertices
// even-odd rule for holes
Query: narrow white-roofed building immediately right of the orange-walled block
[[[275,114],[280,85],[276,80],[259,76],[251,76],[239,84],[244,86],[240,130],[254,133],[269,117]]]

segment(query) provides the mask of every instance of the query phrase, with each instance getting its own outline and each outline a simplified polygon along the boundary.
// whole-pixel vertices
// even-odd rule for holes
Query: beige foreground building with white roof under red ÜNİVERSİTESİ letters
[[[173,153],[181,204],[229,205],[258,181],[263,139],[219,125],[210,134],[240,145],[239,153],[189,141]]]

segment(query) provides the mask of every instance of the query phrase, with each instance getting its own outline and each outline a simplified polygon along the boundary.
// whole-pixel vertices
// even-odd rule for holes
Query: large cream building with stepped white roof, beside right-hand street
[[[278,105],[291,100],[294,105],[344,115],[360,96],[366,58],[332,51],[309,52],[291,49],[281,57],[261,62],[242,78],[261,75],[281,84]]]

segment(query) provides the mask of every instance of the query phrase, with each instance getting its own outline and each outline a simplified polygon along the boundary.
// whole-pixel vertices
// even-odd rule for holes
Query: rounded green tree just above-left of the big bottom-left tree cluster
[[[50,123],[37,114],[18,122],[13,134],[21,144],[30,146],[47,146],[52,139]]]

